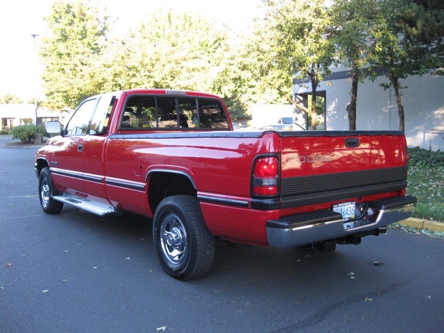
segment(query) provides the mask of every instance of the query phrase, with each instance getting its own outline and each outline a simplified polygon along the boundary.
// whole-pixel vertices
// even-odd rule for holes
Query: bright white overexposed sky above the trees
[[[44,17],[51,14],[54,0],[7,0],[0,9],[0,96],[13,94],[25,101],[43,98],[38,78],[42,63],[36,54],[44,36]],[[126,33],[144,17],[160,8],[198,11],[242,26],[255,15],[260,0],[107,0],[108,15],[117,19],[114,31]],[[32,35],[38,35],[32,37]],[[34,44],[35,42],[35,44]]]

